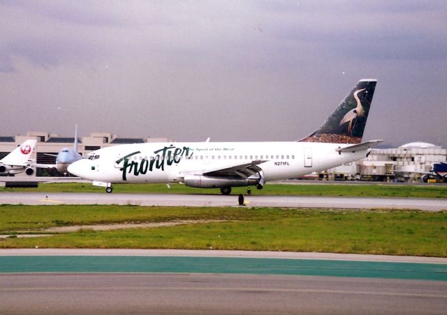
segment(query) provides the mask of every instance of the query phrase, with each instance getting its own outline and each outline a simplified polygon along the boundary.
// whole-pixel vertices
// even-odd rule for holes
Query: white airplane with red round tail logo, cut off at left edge
[[[34,174],[33,163],[29,160],[31,153],[33,153],[37,140],[24,141],[20,146],[17,146],[6,157],[0,160],[0,174],[19,174],[23,171],[28,176]]]

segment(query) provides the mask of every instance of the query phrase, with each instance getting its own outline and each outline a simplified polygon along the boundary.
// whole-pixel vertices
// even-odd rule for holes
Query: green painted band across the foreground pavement
[[[447,281],[447,265],[175,256],[0,256],[0,272],[190,272]]]

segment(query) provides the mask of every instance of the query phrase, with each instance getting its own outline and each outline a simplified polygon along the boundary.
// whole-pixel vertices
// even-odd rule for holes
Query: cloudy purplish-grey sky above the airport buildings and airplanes
[[[2,1],[0,135],[295,140],[362,78],[365,139],[447,146],[439,1]]]

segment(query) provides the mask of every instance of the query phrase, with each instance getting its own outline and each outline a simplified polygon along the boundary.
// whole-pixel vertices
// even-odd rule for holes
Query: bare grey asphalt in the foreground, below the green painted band
[[[447,282],[279,275],[0,274],[3,314],[445,314]]]

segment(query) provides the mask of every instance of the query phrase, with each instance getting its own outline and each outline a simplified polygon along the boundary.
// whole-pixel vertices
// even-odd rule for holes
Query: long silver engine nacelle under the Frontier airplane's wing
[[[189,175],[184,176],[183,182],[196,188],[243,187],[258,185],[259,178]]]

